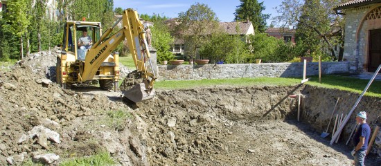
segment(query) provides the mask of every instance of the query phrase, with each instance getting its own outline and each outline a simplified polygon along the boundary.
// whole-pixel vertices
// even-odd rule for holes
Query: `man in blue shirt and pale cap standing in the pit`
[[[357,127],[355,136],[353,136],[353,144],[355,149],[351,151],[351,155],[355,158],[355,165],[364,165],[366,149],[368,149],[369,136],[371,136],[371,127],[366,123],[366,112],[357,113]]]

